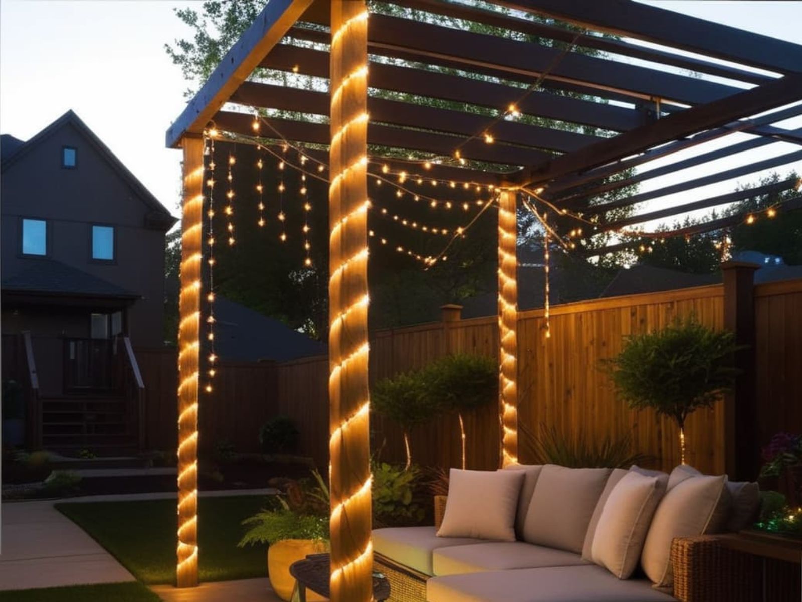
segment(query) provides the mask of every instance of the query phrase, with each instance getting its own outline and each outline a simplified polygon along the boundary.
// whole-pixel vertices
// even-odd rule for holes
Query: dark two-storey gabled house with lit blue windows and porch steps
[[[0,154],[3,378],[36,389],[32,441],[117,444],[132,349],[163,344],[176,218],[72,111]]]

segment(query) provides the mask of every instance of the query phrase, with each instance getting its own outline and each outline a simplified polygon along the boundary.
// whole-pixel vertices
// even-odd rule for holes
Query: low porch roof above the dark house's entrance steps
[[[38,260],[35,265],[4,279],[2,291],[113,299],[139,299],[141,296],[55,259]]]

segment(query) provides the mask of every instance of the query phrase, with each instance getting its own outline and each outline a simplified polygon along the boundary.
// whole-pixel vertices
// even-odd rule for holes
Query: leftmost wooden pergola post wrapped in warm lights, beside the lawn
[[[184,136],[181,292],[178,326],[178,566],[176,585],[198,584],[197,441],[201,329],[203,139]]]

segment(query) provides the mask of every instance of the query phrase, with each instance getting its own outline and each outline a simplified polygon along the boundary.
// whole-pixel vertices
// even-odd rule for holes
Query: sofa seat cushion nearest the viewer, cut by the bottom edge
[[[605,568],[524,568],[434,577],[427,602],[676,602],[648,580],[618,580]]]

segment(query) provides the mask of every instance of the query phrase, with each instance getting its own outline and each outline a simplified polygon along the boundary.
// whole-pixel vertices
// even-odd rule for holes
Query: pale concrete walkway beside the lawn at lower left
[[[0,590],[135,580],[53,503],[2,504]]]

